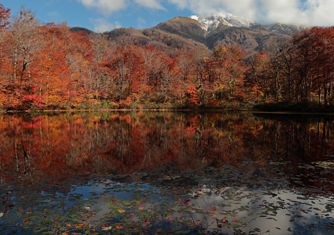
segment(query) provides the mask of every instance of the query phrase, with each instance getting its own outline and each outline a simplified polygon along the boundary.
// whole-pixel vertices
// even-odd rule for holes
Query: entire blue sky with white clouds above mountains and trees
[[[176,16],[227,12],[257,23],[334,25],[334,0],[0,0],[20,12],[32,10],[41,22],[62,23],[95,32],[149,28]]]

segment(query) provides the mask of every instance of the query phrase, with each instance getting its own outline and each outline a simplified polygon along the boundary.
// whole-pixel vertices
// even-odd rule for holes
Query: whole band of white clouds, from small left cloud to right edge
[[[104,16],[139,8],[163,10],[175,7],[194,15],[229,12],[262,24],[334,25],[334,0],[77,0]]]

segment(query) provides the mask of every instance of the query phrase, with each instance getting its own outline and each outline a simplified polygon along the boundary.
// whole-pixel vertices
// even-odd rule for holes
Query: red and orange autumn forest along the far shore
[[[237,45],[115,45],[70,29],[0,4],[1,110],[334,110],[333,26],[307,28],[255,55]]]

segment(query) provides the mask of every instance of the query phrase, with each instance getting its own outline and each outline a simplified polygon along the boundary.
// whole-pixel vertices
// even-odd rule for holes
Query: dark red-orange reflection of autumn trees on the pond
[[[302,172],[299,164],[323,161],[323,155],[333,154],[334,145],[333,120],[251,113],[5,115],[0,117],[0,133],[1,171],[34,179],[87,171],[129,174],[166,165],[196,171],[242,161],[257,162],[243,166],[255,172],[256,166],[281,163],[268,164],[265,176],[270,178]]]

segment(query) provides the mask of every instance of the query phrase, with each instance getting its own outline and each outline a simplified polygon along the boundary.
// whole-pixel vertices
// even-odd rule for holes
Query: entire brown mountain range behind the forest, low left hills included
[[[114,45],[152,45],[167,54],[177,49],[194,49],[198,46],[213,49],[218,45],[236,44],[251,56],[267,51],[272,45],[287,41],[305,26],[288,24],[259,24],[229,13],[210,16],[174,17],[152,28],[116,28],[103,35]],[[71,31],[92,31],[72,27]]]

